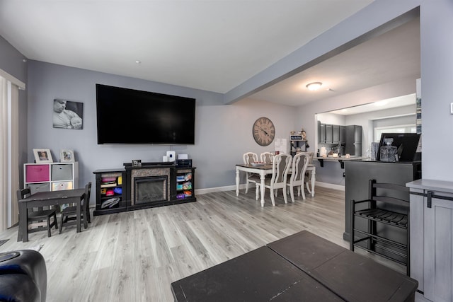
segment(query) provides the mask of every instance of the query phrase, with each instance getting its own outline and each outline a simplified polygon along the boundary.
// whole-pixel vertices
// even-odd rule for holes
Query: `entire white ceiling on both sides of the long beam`
[[[28,59],[226,93],[371,2],[1,0],[0,35]],[[251,98],[302,105],[411,76],[418,20]]]

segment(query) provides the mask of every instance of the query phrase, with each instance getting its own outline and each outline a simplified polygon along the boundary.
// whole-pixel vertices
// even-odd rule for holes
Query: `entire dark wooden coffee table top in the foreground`
[[[175,301],[413,301],[414,279],[302,231],[171,284]]]

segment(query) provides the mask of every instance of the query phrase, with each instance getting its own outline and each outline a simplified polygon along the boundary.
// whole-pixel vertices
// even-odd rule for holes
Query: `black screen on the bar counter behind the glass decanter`
[[[385,139],[393,139],[391,146],[396,146],[398,161],[413,162],[416,159],[418,141],[420,134],[416,133],[383,133],[379,141],[379,152],[377,152],[377,161],[381,160],[381,148],[386,146]]]

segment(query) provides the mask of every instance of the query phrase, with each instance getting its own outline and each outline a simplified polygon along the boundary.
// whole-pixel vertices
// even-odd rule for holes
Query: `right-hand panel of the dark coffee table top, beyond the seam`
[[[346,301],[413,301],[418,281],[302,231],[268,244]]]

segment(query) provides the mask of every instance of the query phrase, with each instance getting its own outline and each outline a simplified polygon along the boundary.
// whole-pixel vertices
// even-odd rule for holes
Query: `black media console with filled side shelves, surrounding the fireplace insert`
[[[176,167],[174,163],[142,163],[132,166],[125,163],[125,168],[96,170],[96,209],[94,216],[113,214],[123,211],[134,211],[150,207],[162,207],[171,204],[196,202],[195,168]],[[166,199],[149,203],[134,202],[134,180],[132,170],[136,173],[156,171],[167,176]]]

